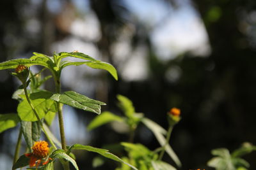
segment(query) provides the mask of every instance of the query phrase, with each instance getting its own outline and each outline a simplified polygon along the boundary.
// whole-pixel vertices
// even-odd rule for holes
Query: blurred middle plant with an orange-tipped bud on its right
[[[169,128],[168,131],[166,131],[156,122],[144,117],[143,113],[136,113],[130,99],[122,95],[118,95],[116,97],[118,99],[118,106],[124,113],[124,117],[120,117],[109,111],[104,111],[101,115],[95,117],[92,122],[90,122],[88,125],[88,130],[91,131],[100,125],[108,124],[110,122],[120,122],[129,127],[129,143],[121,143],[121,145],[124,146],[124,149],[128,153],[128,157],[122,157],[122,159],[124,159],[126,162],[129,162],[129,164],[138,167],[138,169],[176,169],[170,164],[162,161],[164,152],[167,152],[175,164],[180,167],[180,160],[175,152],[173,152],[172,147],[169,145],[173,126],[180,120],[180,110],[173,108],[170,112],[168,112],[167,119],[169,122]],[[153,132],[154,136],[156,136],[157,141],[159,141],[161,146],[156,148],[156,150],[151,151],[140,143],[133,143],[134,132],[136,131],[136,128],[140,122],[148,127],[148,129]],[[128,169],[131,168],[129,166],[122,165],[116,170]]]

